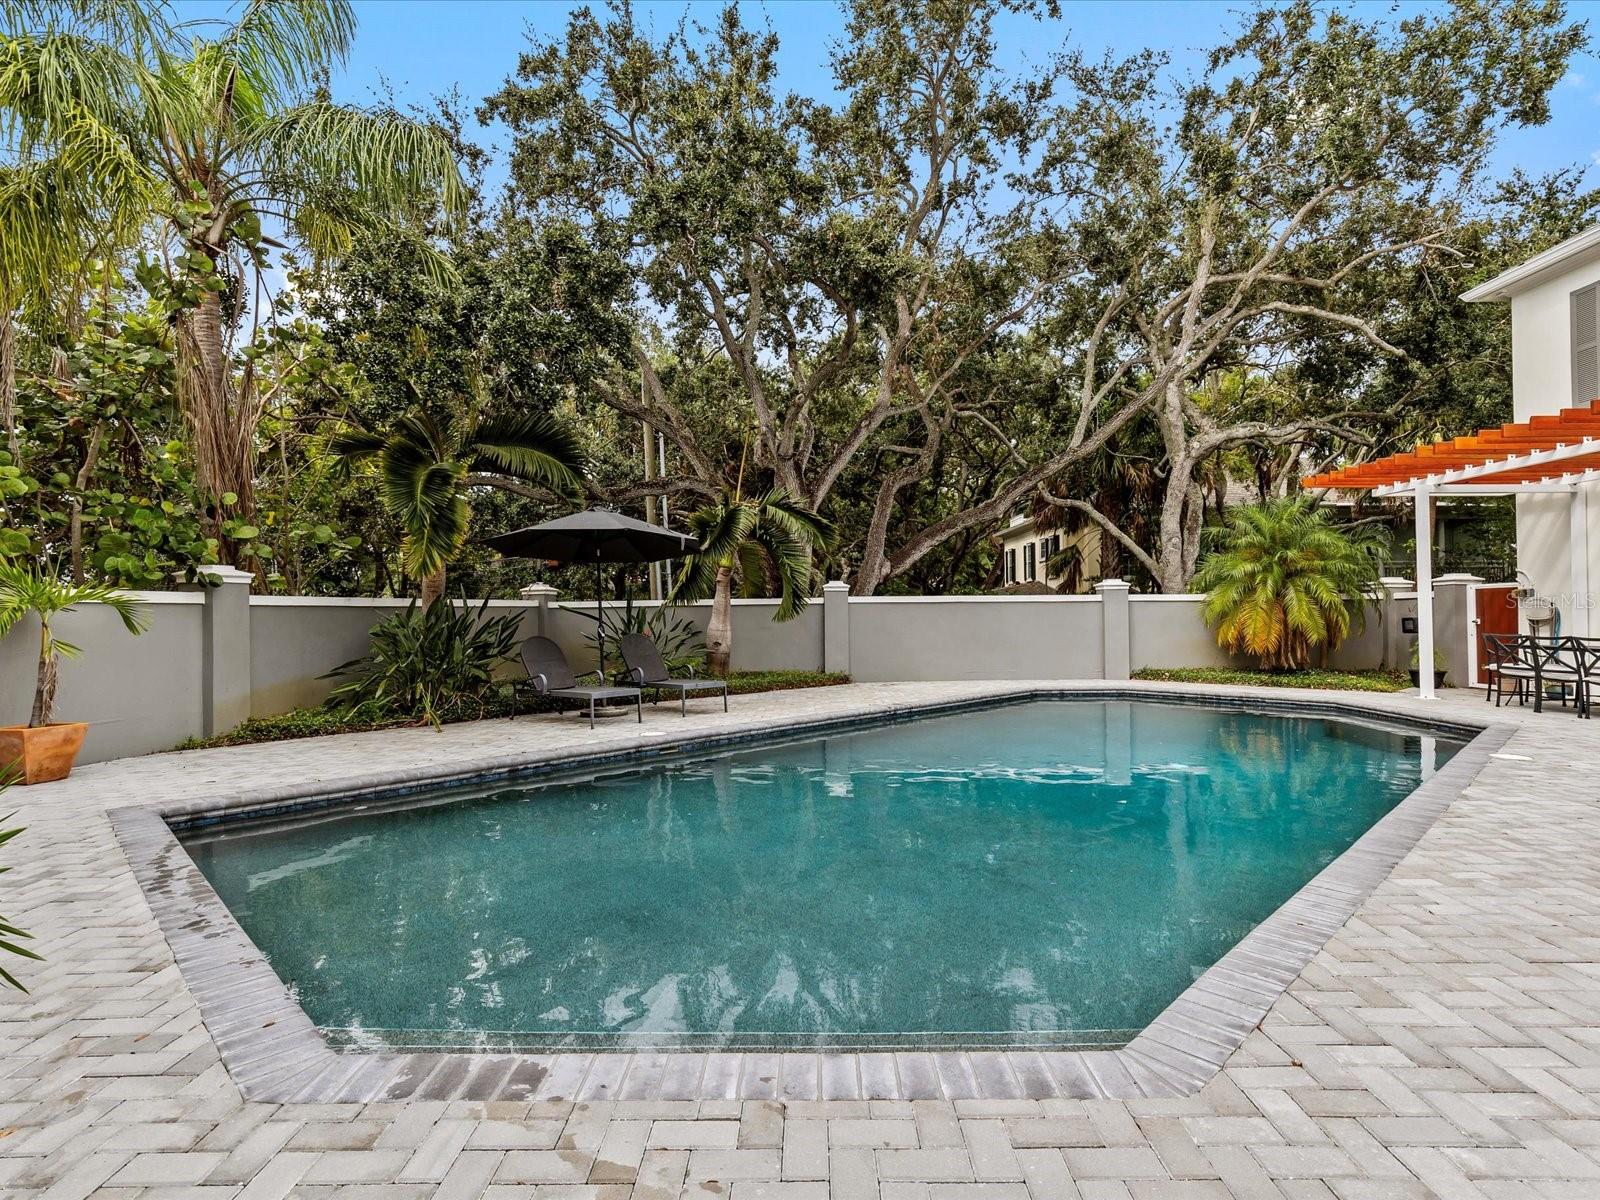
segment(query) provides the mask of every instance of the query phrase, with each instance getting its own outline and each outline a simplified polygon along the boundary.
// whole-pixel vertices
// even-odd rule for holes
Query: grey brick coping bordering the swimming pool
[[[538,778],[578,768],[619,768],[680,752],[717,750],[776,738],[893,723],[1035,699],[1192,702],[1210,707],[1376,720],[1467,739],[1435,774],[1374,822],[1275,912],[1181,992],[1118,1050],[899,1050],[704,1051],[598,1050],[363,1051],[334,1050],[213,891],[173,826],[221,818],[286,816],[448,782]],[[882,1099],[1139,1099],[1192,1096],[1243,1045],[1315,954],[1360,909],[1472,782],[1515,726],[1430,720],[1381,702],[1261,693],[1216,694],[1186,686],[1019,685],[960,701],[866,707],[800,723],[651,738],[595,754],[582,747],[539,757],[357,786],[286,787],[110,810],[109,819],[134,877],[194,994],[222,1062],[246,1099],[269,1102],[371,1102],[398,1099],[778,1099],[810,1075],[854,1080]],[[800,1088],[803,1090],[803,1086]],[[848,1088],[840,1088],[848,1090]]]

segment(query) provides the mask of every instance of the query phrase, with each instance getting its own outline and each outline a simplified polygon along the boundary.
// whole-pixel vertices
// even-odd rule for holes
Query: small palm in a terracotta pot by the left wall
[[[0,763],[14,762],[18,779],[42,784],[66,779],[83,746],[88,725],[56,722],[56,677],[62,658],[80,650],[56,637],[53,619],[77,605],[106,605],[130,634],[144,632],[142,605],[109,584],[72,584],[35,565],[0,563],[0,637],[27,614],[38,618],[38,670],[27,725],[0,725]]]

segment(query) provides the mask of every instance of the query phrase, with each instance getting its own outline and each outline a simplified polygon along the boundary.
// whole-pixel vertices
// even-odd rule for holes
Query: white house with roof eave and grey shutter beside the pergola
[[[1462,299],[1510,302],[1517,421],[1600,397],[1600,226],[1496,275]],[[1568,614],[1592,605],[1590,595],[1571,594],[1573,581],[1600,579],[1600,544],[1587,531],[1600,526],[1597,491],[1600,485],[1584,483],[1571,499],[1563,494],[1517,496],[1518,566],[1541,595]],[[1587,570],[1578,563],[1579,570],[1573,571],[1574,547],[1586,555]]]

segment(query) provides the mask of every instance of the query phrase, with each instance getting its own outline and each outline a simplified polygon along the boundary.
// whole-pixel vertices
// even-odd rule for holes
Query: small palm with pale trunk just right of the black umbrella
[[[733,656],[733,587],[781,597],[774,621],[798,616],[811,592],[811,552],[834,536],[834,526],[786,491],[765,496],[723,493],[690,515],[699,550],[683,560],[672,602],[710,597],[706,662],[726,675]]]

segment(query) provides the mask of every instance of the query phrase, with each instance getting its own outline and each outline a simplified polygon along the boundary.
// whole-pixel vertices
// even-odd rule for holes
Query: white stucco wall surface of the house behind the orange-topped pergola
[[[1573,395],[1571,294],[1600,282],[1600,261],[1584,262],[1544,280],[1510,301],[1512,400],[1518,421],[1558,413],[1574,402],[1595,397]],[[1600,486],[1586,485],[1589,525],[1589,579],[1600,581]],[[1517,498],[1517,562],[1533,587],[1562,610],[1563,632],[1581,632],[1574,614],[1590,597],[1573,592],[1571,502],[1565,496]],[[1600,634],[1600,616],[1592,614],[1587,632]]]

